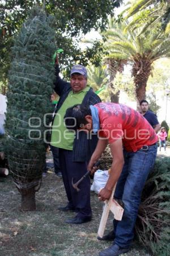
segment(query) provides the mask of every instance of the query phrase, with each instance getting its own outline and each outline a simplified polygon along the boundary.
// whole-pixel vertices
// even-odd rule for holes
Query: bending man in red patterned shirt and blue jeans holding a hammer
[[[111,173],[98,196],[100,200],[108,200],[117,182],[114,197],[123,201],[124,214],[121,221],[113,221],[113,245],[99,255],[126,253],[134,237],[141,193],[154,166],[157,135],[139,112],[123,104],[99,103],[90,108],[75,105],[67,109],[65,118],[68,128],[72,125],[75,130],[93,131],[99,135],[97,147],[88,164],[89,171],[92,171],[109,142],[113,156]],[[73,123],[73,118],[76,123]]]

